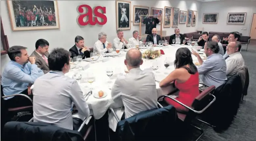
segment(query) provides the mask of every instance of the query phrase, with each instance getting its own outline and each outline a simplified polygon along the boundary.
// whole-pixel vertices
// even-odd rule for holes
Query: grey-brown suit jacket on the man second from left
[[[46,52],[44,55],[48,58],[49,53]],[[49,65],[44,61],[42,56],[40,56],[37,52],[33,51],[32,54],[30,55],[31,57],[35,57],[35,64],[37,65],[38,68],[42,69],[44,74],[50,72]]]

